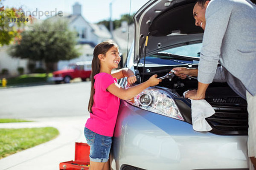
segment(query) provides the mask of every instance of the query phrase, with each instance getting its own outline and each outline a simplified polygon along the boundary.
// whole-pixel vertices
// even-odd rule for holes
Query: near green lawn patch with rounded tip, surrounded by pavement
[[[0,129],[0,159],[58,136],[54,127]]]

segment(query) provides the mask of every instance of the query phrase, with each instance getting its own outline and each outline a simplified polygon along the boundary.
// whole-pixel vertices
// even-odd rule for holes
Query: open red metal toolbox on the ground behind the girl
[[[60,170],[89,170],[90,146],[86,143],[76,142],[75,161],[60,163]]]

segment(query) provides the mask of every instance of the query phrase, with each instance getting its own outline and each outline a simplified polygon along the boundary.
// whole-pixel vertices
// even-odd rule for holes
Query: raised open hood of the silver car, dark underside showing
[[[202,41],[203,29],[195,26],[195,0],[150,0],[134,15],[134,62],[172,45]]]

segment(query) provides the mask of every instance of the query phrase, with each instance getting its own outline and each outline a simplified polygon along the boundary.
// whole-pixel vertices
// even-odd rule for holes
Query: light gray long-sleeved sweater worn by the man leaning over
[[[250,0],[211,0],[208,4],[199,82],[212,82],[218,61],[256,95],[256,6]]]

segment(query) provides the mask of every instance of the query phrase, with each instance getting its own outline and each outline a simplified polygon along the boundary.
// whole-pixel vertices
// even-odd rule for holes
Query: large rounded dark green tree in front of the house
[[[56,31],[64,28],[65,31]],[[31,31],[21,33],[22,39],[15,44],[9,54],[12,57],[27,58],[32,61],[44,61],[47,74],[49,65],[59,60],[70,60],[79,57],[75,48],[76,32],[70,31],[67,24],[57,21],[44,20],[42,23],[34,23]]]

